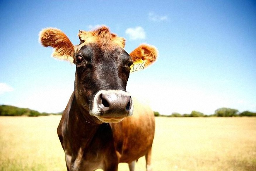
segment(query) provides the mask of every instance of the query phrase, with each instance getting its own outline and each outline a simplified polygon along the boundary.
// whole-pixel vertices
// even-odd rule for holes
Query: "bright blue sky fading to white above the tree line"
[[[255,1],[0,1],[0,104],[64,110],[75,65],[52,58],[38,33],[57,27],[79,44],[79,29],[102,24],[127,52],[158,48],[158,61],[127,84],[153,110],[256,112]]]

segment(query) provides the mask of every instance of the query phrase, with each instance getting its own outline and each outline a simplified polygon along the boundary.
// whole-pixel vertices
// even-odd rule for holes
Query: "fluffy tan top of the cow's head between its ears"
[[[81,43],[76,46],[76,51],[79,51],[82,46],[91,43],[97,44],[103,49],[112,49],[117,46],[124,48],[125,46],[125,39],[111,33],[106,26],[101,26],[89,32],[79,30],[78,37]]]

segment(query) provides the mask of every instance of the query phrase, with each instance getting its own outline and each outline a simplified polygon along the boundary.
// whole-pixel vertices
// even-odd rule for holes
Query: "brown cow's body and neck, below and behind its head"
[[[145,156],[150,165],[154,138],[153,111],[134,100],[134,114],[118,123],[95,124],[83,117],[72,94],[57,129],[68,170],[117,170]],[[148,168],[149,169],[149,168]]]

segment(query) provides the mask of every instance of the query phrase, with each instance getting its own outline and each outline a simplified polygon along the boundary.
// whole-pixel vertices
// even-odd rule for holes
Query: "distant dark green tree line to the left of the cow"
[[[47,116],[47,115],[62,115],[60,113],[40,113],[29,108],[18,108],[9,105],[0,105],[0,116]]]

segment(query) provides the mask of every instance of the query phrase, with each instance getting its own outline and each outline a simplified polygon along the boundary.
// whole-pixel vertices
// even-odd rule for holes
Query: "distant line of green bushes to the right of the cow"
[[[250,111],[244,111],[239,113],[237,109],[231,108],[219,108],[215,110],[212,115],[204,115],[202,112],[198,112],[193,110],[190,114],[180,114],[180,113],[172,113],[171,115],[161,115],[159,112],[154,112],[155,116],[164,116],[164,117],[236,117],[236,116],[256,116],[256,113]]]

